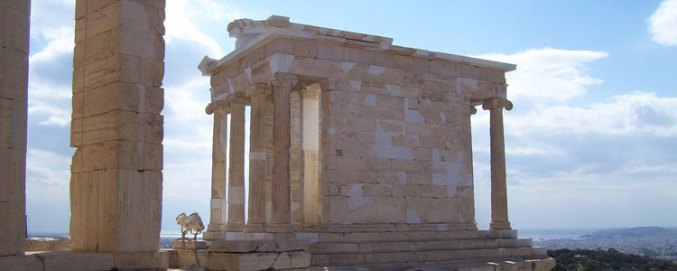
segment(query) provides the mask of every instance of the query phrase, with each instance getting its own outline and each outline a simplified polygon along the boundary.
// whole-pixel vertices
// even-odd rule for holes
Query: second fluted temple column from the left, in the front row
[[[230,103],[230,154],[228,164],[228,220],[226,231],[245,226],[245,102]]]

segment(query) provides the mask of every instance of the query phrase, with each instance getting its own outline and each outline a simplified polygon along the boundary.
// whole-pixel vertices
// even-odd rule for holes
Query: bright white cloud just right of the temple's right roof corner
[[[606,58],[606,51],[568,51],[552,48],[533,49],[515,54],[490,53],[478,58],[517,64],[517,70],[505,76],[508,98],[528,99],[537,105],[566,102],[584,95],[585,87],[599,84],[585,73],[585,64]]]

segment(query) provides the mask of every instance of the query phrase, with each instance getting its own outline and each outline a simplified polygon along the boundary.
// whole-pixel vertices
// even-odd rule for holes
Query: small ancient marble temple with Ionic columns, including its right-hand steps
[[[515,65],[275,15],[227,31],[235,51],[199,64],[214,117],[205,239],[307,239],[311,266],[554,266],[508,220],[503,113]],[[490,117],[488,230],[474,212],[478,109]]]

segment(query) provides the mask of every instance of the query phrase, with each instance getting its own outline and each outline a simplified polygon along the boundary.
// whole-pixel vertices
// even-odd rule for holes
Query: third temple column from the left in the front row
[[[245,231],[263,232],[265,224],[265,97],[268,84],[255,84],[249,118],[249,206]]]

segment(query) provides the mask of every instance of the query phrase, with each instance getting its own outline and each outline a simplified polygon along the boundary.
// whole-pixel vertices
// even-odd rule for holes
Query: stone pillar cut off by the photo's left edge
[[[26,97],[31,1],[0,1],[0,257],[26,238]]]

